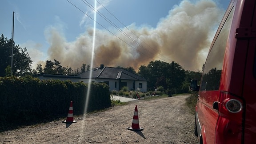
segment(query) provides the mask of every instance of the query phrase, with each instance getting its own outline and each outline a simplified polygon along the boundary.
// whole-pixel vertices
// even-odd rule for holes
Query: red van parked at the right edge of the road
[[[190,85],[200,144],[256,144],[256,0],[231,0],[203,69]]]

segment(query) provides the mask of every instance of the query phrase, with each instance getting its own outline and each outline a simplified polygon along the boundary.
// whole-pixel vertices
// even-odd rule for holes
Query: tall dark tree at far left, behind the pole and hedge
[[[20,48],[13,42],[13,76],[30,75],[32,72],[32,60],[26,48]],[[12,39],[7,39],[3,34],[0,36],[0,76],[5,76],[5,68],[11,65]]]

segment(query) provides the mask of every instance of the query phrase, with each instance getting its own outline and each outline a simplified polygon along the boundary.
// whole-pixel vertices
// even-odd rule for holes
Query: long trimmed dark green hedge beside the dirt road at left
[[[88,84],[70,80],[0,77],[0,131],[67,116],[70,101],[74,114],[83,114],[87,91]],[[92,83],[87,112],[110,106],[108,85]]]

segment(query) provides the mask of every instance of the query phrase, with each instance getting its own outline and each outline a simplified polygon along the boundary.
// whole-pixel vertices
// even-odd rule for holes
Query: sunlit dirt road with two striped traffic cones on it
[[[187,96],[136,100],[104,112],[74,116],[77,123],[52,121],[0,133],[0,144],[196,144]],[[135,105],[144,131],[131,127]]]

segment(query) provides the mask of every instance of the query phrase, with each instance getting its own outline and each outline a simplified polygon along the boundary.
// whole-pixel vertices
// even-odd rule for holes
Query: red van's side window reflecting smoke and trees
[[[223,27],[218,34],[204,65],[200,91],[214,91],[220,87],[220,76],[222,71],[224,53],[231,27],[233,9],[229,13]]]

